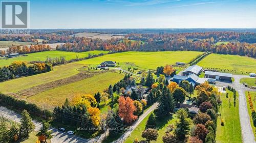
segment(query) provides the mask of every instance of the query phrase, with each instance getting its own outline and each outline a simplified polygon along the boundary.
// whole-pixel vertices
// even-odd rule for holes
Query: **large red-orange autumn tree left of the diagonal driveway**
[[[125,123],[131,123],[135,121],[138,117],[134,115],[134,112],[136,111],[136,107],[134,106],[134,101],[130,97],[124,98],[121,96],[118,99],[119,103],[119,109],[118,109],[118,115],[123,118],[123,121]]]

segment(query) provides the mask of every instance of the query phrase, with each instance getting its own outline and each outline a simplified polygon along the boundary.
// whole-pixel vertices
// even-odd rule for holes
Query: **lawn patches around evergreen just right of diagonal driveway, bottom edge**
[[[124,141],[124,143],[130,143],[133,142],[135,138],[139,140],[145,140],[145,138],[142,138],[142,131],[145,129],[146,122],[148,118],[150,117],[150,114],[144,120],[137,126],[137,128],[131,133],[131,135]],[[164,119],[159,119],[157,118],[157,128],[159,132],[159,136],[157,137],[156,141],[151,141],[151,142],[163,142],[162,141],[162,136],[165,134],[166,127],[170,124],[174,124],[177,119],[175,116],[173,118],[166,117]]]

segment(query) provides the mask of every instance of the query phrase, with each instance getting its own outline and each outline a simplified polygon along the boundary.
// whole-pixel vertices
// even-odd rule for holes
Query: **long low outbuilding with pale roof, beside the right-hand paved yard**
[[[214,78],[216,80],[231,81],[232,74],[231,73],[205,71],[204,77],[206,77],[206,78]]]

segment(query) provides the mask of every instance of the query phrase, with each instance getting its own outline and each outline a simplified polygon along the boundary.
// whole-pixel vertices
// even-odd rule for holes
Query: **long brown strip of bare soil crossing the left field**
[[[80,81],[80,80],[83,80],[83,79],[86,79],[86,78],[90,78],[90,77],[94,76],[95,74],[104,73],[104,72],[106,72],[106,71],[78,73],[76,75],[73,75],[73,76],[70,76],[70,77],[67,77],[67,78],[51,81],[51,82],[48,82],[48,83],[45,83],[45,84],[37,85],[37,86],[29,88],[29,89],[18,91],[17,94],[23,95],[23,96],[28,96],[28,97],[34,96],[34,95],[39,94],[41,92],[45,92],[45,91],[48,91],[50,89],[60,87],[62,85],[67,85],[69,83],[73,83],[73,82]]]

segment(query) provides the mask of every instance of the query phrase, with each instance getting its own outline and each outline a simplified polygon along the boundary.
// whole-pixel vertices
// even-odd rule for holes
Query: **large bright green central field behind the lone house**
[[[114,61],[122,69],[137,67],[138,69],[156,69],[158,66],[175,64],[177,61],[188,63],[203,52],[198,51],[156,51],[156,52],[120,52],[97,58],[80,61],[78,63],[98,65],[103,61]]]

